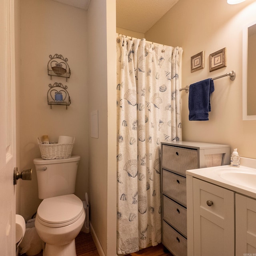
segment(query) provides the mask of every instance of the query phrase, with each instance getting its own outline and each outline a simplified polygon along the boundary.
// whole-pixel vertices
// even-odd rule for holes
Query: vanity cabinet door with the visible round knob
[[[193,178],[194,255],[234,256],[234,192]]]

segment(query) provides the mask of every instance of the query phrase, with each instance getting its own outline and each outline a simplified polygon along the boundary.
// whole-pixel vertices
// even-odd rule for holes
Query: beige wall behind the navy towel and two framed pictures
[[[146,40],[181,46],[182,87],[231,70],[236,79],[214,80],[209,121],[188,120],[188,94],[182,91],[183,140],[229,144],[240,156],[256,158],[256,121],[242,121],[242,28],[256,20],[256,2],[180,0],[148,32]],[[209,55],[227,47],[227,67],[209,72]],[[204,50],[205,67],[190,72],[190,57]]]

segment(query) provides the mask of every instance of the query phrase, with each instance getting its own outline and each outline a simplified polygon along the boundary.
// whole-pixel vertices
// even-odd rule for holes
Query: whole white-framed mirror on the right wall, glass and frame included
[[[256,22],[243,29],[243,120],[256,120]]]

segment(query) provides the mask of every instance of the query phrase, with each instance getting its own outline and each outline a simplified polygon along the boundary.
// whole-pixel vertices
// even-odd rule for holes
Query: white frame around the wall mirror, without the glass
[[[243,41],[242,41],[242,108],[243,108],[243,120],[256,120],[256,115],[248,116],[247,114],[247,59],[248,59],[248,28],[255,25],[256,21],[253,21],[243,28]]]

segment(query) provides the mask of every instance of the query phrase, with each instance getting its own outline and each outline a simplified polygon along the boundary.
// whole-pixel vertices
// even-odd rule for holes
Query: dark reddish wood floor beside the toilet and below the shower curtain
[[[76,254],[77,256],[99,256],[97,248],[94,244],[90,233],[80,232],[76,237]],[[170,252],[164,252],[164,246],[158,244],[157,246],[148,247],[138,252],[128,254],[126,256],[173,256]],[[43,252],[35,256],[43,256]]]

